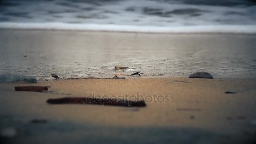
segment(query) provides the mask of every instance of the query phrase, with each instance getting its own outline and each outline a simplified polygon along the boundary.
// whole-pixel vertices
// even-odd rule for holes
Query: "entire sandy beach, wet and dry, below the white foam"
[[[0,32],[0,74],[37,78],[34,84],[0,83],[1,142],[255,142],[256,35]],[[115,70],[116,65],[135,70]],[[127,76],[136,71],[145,75]],[[198,71],[209,72],[214,79],[188,78]],[[119,74],[125,79],[54,80],[52,74],[64,79]],[[29,85],[50,88],[14,89]],[[146,107],[46,102],[93,93],[121,98],[127,93],[128,99],[144,99]],[[154,94],[157,101],[148,100]]]

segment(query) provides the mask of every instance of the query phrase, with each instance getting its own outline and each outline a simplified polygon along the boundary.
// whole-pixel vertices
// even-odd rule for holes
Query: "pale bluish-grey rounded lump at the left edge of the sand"
[[[37,79],[35,77],[29,77],[24,75],[0,74],[0,83],[14,82],[36,83]]]

